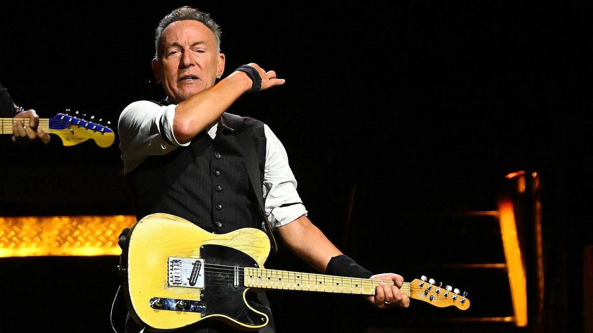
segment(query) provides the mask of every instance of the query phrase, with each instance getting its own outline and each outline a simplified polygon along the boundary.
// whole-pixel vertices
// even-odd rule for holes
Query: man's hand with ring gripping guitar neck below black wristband
[[[410,305],[410,297],[400,290],[404,278],[395,273],[382,273],[371,276],[372,280],[393,281],[391,283],[381,283],[377,285],[377,290],[372,296],[365,296],[366,300],[380,309],[393,308],[401,306],[407,308]]]

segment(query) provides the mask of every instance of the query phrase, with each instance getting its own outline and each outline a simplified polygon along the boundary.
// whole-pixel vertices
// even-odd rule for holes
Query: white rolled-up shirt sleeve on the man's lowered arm
[[[266,134],[266,168],[264,169],[263,194],[266,215],[272,229],[286,225],[307,215],[307,209],[297,192],[297,180],[288,164],[286,149],[264,125]]]

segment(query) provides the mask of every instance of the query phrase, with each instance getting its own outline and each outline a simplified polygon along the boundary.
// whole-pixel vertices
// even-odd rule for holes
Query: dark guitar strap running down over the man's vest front
[[[247,172],[249,174],[249,181],[251,182],[251,188],[257,197],[257,202],[259,203],[259,211],[262,214],[264,222],[262,223],[263,229],[266,231],[267,236],[270,238],[270,243],[272,248],[274,249],[274,253],[278,253],[278,244],[276,243],[276,238],[274,237],[274,233],[272,232],[272,225],[270,225],[270,221],[267,219],[266,211],[264,210],[264,203],[263,203],[263,193],[262,193],[262,182],[257,181],[260,180],[259,171],[258,171],[258,163],[257,163],[257,155],[256,155],[256,148],[253,145],[253,139],[251,139],[251,135],[247,130],[247,126],[243,126],[243,129],[238,131],[237,135],[235,135],[235,140],[241,147],[243,151],[243,156],[245,157],[245,164],[247,165]]]

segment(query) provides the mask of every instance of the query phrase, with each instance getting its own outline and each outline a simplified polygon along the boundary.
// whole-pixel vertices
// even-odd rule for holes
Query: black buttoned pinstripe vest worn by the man
[[[266,156],[262,121],[224,113],[214,139],[202,132],[189,146],[167,155],[148,156],[126,174],[136,217],[173,214],[213,233],[261,228],[258,201],[235,140],[243,130],[253,139],[260,174],[256,183],[262,184]]]

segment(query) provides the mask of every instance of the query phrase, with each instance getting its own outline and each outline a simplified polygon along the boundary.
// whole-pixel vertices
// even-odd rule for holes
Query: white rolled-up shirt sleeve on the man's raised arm
[[[138,167],[149,155],[165,155],[181,144],[173,135],[173,117],[177,105],[159,105],[151,101],[133,102],[122,111],[117,129],[124,172]]]

